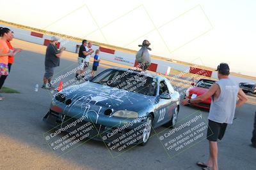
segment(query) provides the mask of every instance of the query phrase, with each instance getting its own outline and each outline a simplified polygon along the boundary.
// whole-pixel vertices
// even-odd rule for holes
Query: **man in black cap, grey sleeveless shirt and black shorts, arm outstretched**
[[[206,163],[197,162],[202,168],[213,170],[218,169],[218,139],[221,140],[225,134],[227,124],[232,124],[236,108],[242,106],[248,99],[243,90],[239,89],[228,75],[230,69],[227,63],[218,66],[218,79],[211,88],[195,99],[184,99],[182,104],[200,103],[211,97],[211,107],[209,111],[209,125],[207,129],[207,139],[209,140],[210,155]],[[239,100],[237,101],[237,96]]]

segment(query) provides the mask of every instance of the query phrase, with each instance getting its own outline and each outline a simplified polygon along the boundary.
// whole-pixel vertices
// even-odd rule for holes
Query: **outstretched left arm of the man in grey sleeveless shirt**
[[[202,96],[198,96],[195,99],[190,99],[190,103],[200,103],[202,101],[205,101],[206,99],[211,97],[218,90],[218,88],[219,88],[218,85],[216,83],[214,83],[205,94],[203,94]],[[189,101],[188,98],[184,99],[181,101],[181,104],[182,105],[189,104],[188,101]]]

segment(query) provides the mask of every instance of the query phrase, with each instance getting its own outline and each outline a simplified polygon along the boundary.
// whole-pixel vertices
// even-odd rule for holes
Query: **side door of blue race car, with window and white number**
[[[159,94],[158,95],[160,96],[163,93],[170,95],[170,92],[166,85],[165,80],[159,81]],[[156,114],[155,114],[155,118],[154,118],[155,127],[163,125],[170,120],[170,118],[169,118],[170,113],[168,113],[170,111],[170,103],[171,103],[171,99],[161,99],[161,98],[157,99]]]

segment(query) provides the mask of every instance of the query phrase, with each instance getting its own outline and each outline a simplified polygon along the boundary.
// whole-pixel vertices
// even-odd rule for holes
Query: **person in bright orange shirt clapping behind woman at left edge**
[[[11,32],[11,36],[8,36],[8,38],[6,39],[6,44],[8,45],[9,49],[11,52],[13,52],[13,55],[8,55],[8,73],[10,73],[13,61],[14,61],[14,55],[16,53],[19,53],[21,51],[20,48],[13,48],[13,46],[11,45],[10,41],[12,41],[13,39],[13,31]],[[0,89],[3,87],[4,81],[6,80],[8,74],[6,75],[1,75],[0,77]]]

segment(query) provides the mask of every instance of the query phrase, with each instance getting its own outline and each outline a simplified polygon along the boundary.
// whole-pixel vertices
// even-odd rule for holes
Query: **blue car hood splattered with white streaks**
[[[63,89],[61,94],[65,94],[66,99],[72,100],[71,106],[83,107],[90,104],[91,106],[109,108],[113,111],[140,111],[147,106],[152,106],[156,101],[154,96],[116,89],[90,81]]]

